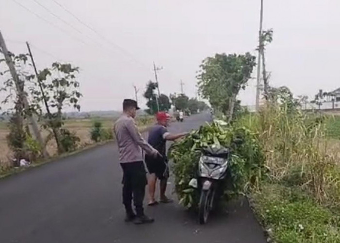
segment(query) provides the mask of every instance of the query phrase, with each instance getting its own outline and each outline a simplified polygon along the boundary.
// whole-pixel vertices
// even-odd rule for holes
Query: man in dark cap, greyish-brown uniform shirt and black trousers
[[[123,115],[116,121],[114,131],[119,147],[119,162],[123,170],[125,221],[135,220],[135,224],[145,224],[152,223],[154,220],[147,217],[143,209],[147,178],[142,150],[150,157],[157,157],[159,153],[138,132],[134,120],[138,109],[136,101],[124,100]],[[132,209],[132,199],[134,200],[136,214]]]

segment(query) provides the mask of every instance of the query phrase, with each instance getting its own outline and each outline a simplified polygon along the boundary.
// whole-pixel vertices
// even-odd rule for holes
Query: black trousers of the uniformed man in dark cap
[[[126,213],[132,214],[132,199],[137,216],[144,215],[143,201],[147,185],[146,171],[143,161],[121,163],[123,169],[123,204]]]

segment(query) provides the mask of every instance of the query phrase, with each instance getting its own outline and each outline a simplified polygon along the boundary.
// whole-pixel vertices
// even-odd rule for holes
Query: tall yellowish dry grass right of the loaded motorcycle
[[[328,147],[326,121],[289,104],[268,104],[238,120],[257,134],[268,179],[299,187],[321,204],[340,208],[340,165]]]

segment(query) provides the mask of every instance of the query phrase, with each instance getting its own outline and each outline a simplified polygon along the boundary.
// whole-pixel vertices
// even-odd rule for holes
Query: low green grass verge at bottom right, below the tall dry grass
[[[264,183],[251,194],[252,207],[269,242],[339,243],[340,217],[298,188]]]

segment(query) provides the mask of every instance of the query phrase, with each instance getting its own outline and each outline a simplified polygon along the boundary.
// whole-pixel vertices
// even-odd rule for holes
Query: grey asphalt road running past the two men
[[[198,128],[208,117],[172,123],[170,131]],[[177,203],[147,207],[152,225],[124,223],[117,158],[110,143],[0,180],[0,243],[266,242],[244,200],[205,226]]]

